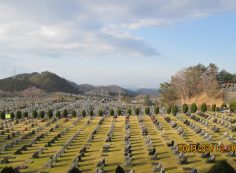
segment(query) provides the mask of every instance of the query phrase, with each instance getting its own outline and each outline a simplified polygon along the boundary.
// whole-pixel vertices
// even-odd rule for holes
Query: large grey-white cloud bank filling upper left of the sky
[[[133,30],[235,9],[235,0],[3,0],[0,51],[39,58],[157,56],[155,46]]]

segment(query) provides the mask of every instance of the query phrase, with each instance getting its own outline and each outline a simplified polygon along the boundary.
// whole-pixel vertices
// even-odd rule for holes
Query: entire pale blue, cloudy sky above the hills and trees
[[[191,65],[236,73],[235,0],[1,0],[0,78],[159,88]]]

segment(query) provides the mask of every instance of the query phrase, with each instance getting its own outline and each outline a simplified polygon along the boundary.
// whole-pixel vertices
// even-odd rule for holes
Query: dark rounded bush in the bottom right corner
[[[226,160],[221,160],[216,162],[207,173],[235,173],[235,171]]]

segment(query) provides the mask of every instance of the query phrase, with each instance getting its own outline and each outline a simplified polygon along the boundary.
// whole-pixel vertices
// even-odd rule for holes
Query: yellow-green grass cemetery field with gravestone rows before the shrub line
[[[235,151],[211,146],[236,143],[235,114],[144,108],[121,115],[94,112],[0,120],[0,169],[19,172],[206,172],[219,160],[236,168]],[[55,111],[54,111],[55,112]],[[191,152],[183,146],[194,146]],[[205,148],[203,147],[205,146]],[[118,167],[118,168],[117,168]]]

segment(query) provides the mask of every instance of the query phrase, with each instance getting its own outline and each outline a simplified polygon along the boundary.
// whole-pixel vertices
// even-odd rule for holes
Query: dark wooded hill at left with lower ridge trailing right
[[[0,95],[5,96],[9,93],[17,92],[21,96],[43,95],[45,92],[65,92],[87,95],[128,95],[136,96],[133,92],[116,85],[93,86],[89,84],[76,84],[68,81],[54,73],[25,73],[15,77],[8,77],[0,80]]]

